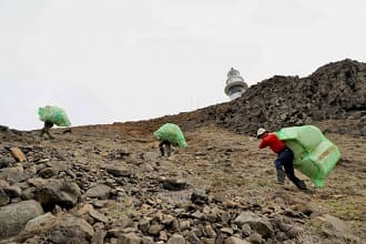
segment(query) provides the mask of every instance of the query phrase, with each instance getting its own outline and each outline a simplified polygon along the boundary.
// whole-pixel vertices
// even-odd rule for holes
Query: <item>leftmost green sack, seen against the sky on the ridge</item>
[[[59,126],[70,126],[70,120],[67,112],[58,106],[47,105],[38,109],[41,121],[48,121]]]

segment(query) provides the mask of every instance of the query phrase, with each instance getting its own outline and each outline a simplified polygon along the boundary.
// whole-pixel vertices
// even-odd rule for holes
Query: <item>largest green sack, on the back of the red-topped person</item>
[[[323,187],[324,180],[340,159],[338,148],[313,125],[284,128],[275,134],[293,150],[294,167]]]

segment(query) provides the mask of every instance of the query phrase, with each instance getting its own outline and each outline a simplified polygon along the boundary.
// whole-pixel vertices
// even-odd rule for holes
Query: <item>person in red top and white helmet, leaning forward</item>
[[[274,164],[277,173],[277,182],[284,184],[285,174],[299,189],[306,191],[306,184],[295,175],[294,171],[294,153],[286,144],[281,141],[275,133],[268,133],[265,129],[260,128],[256,133],[257,139],[261,139],[260,149],[270,146],[277,154]],[[285,171],[284,171],[285,169]]]

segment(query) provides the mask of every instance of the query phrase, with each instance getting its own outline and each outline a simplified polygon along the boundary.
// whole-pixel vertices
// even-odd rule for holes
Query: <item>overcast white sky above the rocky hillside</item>
[[[0,0],[0,124],[135,121],[228,101],[226,73],[366,60],[363,0]]]

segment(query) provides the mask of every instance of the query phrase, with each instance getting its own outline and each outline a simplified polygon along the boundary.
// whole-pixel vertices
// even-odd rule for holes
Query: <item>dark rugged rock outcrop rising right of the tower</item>
[[[365,135],[366,63],[344,60],[306,78],[275,75],[252,85],[227,106],[212,108],[216,122],[241,133],[277,130],[327,119],[360,119],[347,131]]]

